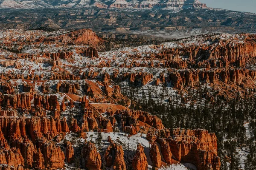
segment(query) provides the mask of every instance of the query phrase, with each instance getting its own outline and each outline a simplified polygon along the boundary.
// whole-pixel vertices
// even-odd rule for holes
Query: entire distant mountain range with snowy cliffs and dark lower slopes
[[[0,0],[1,29],[69,31],[181,38],[256,33],[256,14],[208,8],[199,0]]]

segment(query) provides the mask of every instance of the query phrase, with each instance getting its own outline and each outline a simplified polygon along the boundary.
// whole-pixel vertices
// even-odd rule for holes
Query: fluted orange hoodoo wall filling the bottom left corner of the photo
[[[61,132],[59,120],[35,116],[29,119],[1,117],[0,129],[1,145],[8,150],[3,150],[1,162],[6,161],[14,167],[21,165],[38,169],[64,167],[65,157],[61,148],[47,140]]]

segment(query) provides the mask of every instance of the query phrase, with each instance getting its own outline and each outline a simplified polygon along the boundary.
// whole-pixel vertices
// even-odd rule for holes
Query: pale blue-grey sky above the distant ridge
[[[256,13],[256,0],[199,0],[208,7]]]

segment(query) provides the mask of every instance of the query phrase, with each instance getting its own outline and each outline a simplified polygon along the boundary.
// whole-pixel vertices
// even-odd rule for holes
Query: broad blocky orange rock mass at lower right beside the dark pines
[[[167,138],[172,154],[178,161],[193,163],[198,169],[220,169],[217,138],[207,130],[175,129]]]

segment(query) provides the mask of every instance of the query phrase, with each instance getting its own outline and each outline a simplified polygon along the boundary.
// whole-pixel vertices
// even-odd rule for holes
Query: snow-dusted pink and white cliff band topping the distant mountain
[[[36,8],[98,8],[151,9],[165,8],[207,8],[199,0],[0,0],[0,8],[36,9]]]

